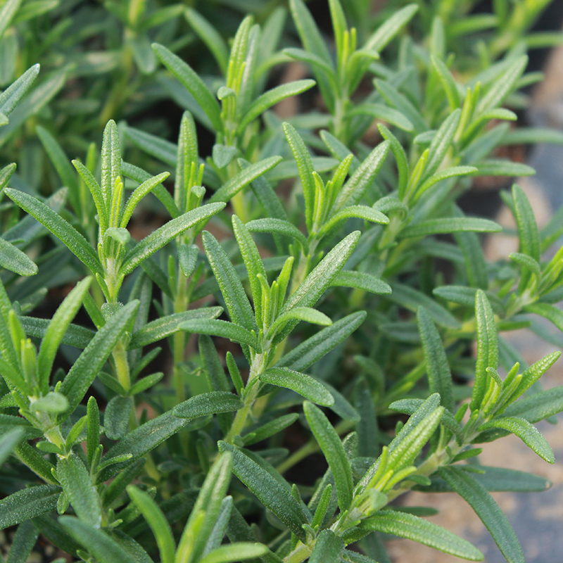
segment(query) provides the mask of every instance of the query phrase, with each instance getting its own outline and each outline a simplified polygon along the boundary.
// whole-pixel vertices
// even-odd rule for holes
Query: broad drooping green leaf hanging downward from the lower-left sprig
[[[100,498],[80,457],[72,453],[59,458],[56,474],[77,517],[92,528],[100,528]]]

